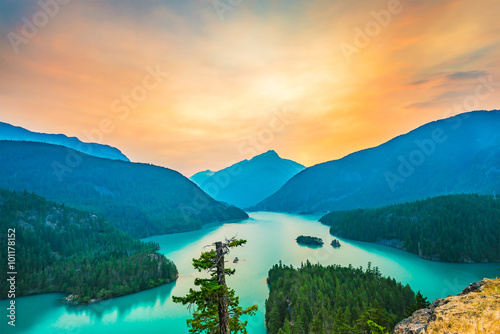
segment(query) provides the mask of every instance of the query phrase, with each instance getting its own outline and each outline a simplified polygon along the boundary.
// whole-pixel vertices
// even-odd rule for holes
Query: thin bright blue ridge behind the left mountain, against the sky
[[[84,143],[76,137],[68,137],[63,134],[32,132],[3,122],[0,122],[0,140],[32,141],[61,145],[98,158],[130,161],[119,149],[112,146]]]

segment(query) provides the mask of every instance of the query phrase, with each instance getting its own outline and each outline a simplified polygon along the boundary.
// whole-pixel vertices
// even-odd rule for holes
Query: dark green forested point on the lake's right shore
[[[500,200],[449,195],[378,209],[331,212],[332,235],[381,242],[446,262],[500,261]]]

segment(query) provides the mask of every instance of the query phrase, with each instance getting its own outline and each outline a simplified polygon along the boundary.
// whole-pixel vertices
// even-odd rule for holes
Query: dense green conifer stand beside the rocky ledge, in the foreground
[[[416,304],[409,285],[382,277],[378,268],[323,267],[307,262],[269,271],[269,334],[381,333]],[[385,332],[384,332],[385,333]]]

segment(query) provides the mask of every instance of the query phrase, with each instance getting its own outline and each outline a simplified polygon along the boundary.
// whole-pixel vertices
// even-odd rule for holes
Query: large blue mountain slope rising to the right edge
[[[328,212],[495,192],[500,193],[500,111],[474,111],[309,167],[251,209]]]

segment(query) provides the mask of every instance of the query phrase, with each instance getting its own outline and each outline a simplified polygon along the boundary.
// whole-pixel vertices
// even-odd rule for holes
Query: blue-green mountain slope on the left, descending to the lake
[[[134,237],[245,219],[168,168],[101,159],[43,143],[0,141],[0,187],[101,214]]]

